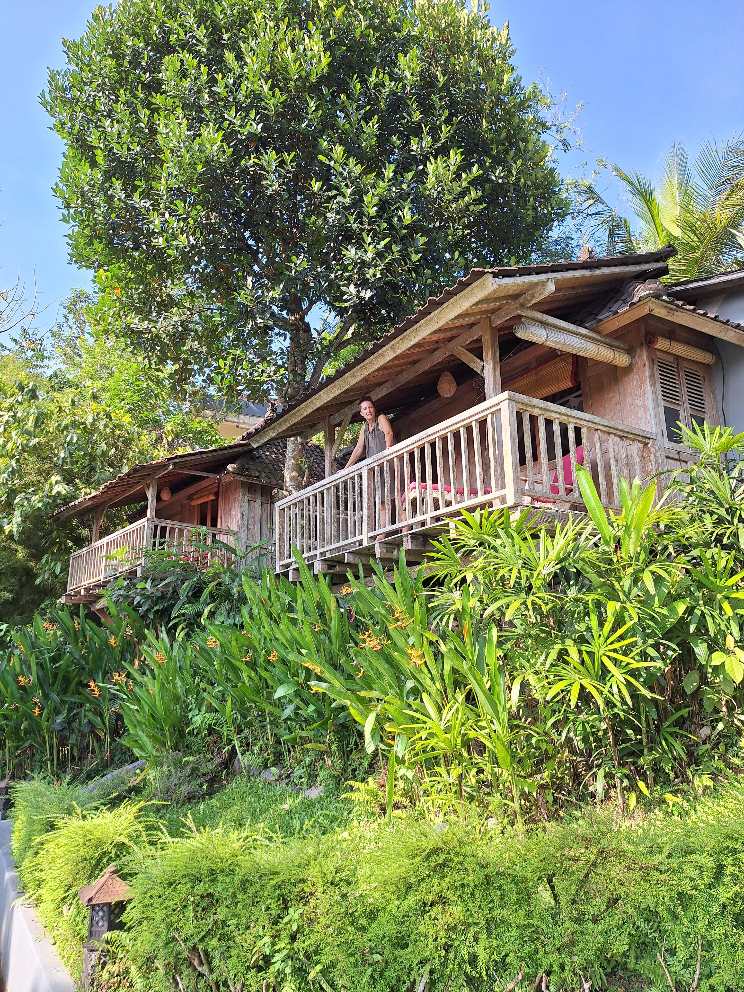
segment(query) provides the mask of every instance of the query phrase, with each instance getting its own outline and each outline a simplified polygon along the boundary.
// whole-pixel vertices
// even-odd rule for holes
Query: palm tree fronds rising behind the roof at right
[[[670,149],[656,181],[611,167],[635,214],[637,229],[588,181],[577,198],[589,240],[607,255],[673,244],[670,280],[700,279],[744,267],[744,139],[704,142],[690,164],[682,142]],[[599,245],[597,246],[599,247]]]

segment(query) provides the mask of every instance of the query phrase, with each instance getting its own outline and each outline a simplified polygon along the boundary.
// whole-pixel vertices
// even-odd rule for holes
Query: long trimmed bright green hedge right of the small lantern
[[[194,831],[134,878],[129,952],[153,990],[661,989],[665,967],[741,989],[743,835],[738,790],[524,840],[410,816],[268,846]]]

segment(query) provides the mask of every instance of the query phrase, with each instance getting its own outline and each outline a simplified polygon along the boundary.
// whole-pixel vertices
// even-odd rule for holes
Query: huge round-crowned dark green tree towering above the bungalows
[[[565,211],[536,86],[464,0],[120,0],[42,100],[101,306],[184,380],[282,402]]]

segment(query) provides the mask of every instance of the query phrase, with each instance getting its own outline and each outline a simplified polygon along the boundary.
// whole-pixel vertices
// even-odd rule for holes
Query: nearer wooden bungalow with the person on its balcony
[[[339,576],[401,546],[420,558],[477,507],[581,511],[578,464],[608,508],[621,478],[688,464],[678,424],[720,422],[716,341],[744,346],[744,327],[670,295],[674,251],[474,269],[245,434],[257,452],[325,438],[325,477],[277,502],[277,571],[295,577],[296,552]],[[365,395],[396,443],[338,470]]]

